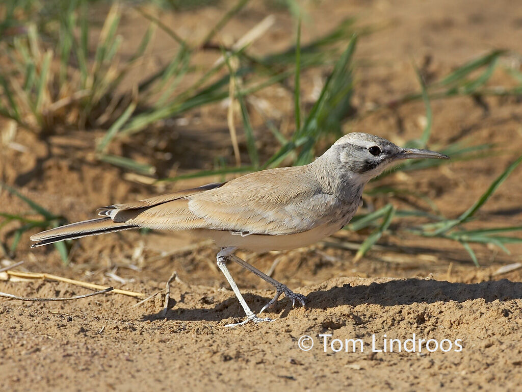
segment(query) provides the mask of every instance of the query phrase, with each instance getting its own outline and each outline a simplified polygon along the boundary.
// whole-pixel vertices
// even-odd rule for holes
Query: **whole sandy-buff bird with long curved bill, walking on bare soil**
[[[262,313],[284,295],[305,306],[306,297],[234,255],[238,249],[281,251],[315,243],[342,229],[362,205],[364,186],[404,159],[448,156],[401,148],[375,135],[352,132],[309,164],[252,172],[126,204],[98,209],[99,218],[70,223],[31,236],[31,247],[121,230],[149,228],[191,231],[221,247],[216,262],[238,298],[246,323],[270,322]],[[276,294],[256,315],[244,300],[227,262],[233,260],[272,284]]]

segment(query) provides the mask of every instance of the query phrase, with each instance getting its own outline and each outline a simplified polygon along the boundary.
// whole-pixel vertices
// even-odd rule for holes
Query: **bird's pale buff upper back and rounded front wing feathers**
[[[306,166],[247,174],[187,198],[189,210],[208,222],[206,228],[253,234],[311,230],[326,223],[340,205],[323,192]]]

